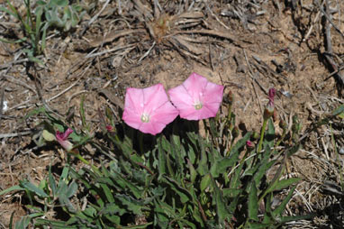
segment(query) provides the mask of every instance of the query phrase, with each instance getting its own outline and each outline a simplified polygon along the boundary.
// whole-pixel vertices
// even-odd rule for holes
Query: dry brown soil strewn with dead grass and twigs
[[[324,16],[327,3],[328,17]],[[23,47],[0,43],[0,96],[4,97],[0,190],[19,179],[38,183],[50,163],[61,161],[58,148],[35,148],[32,134],[39,119],[23,120],[42,101],[61,117],[74,109],[77,127],[78,107],[85,96],[86,118],[96,131],[98,109],[110,107],[121,122],[118,111],[126,87],[158,82],[175,87],[194,71],[225,85],[225,93],[233,92],[240,126],[259,131],[267,90],[276,87],[278,119],[290,124],[291,116],[299,115],[302,133],[307,133],[312,123],[343,103],[341,72],[330,75],[343,61],[343,15],[340,0],[159,1],[156,5],[145,0],[98,1],[75,30],[50,33],[41,57],[44,66],[27,70]],[[326,18],[338,28],[331,26],[327,39]],[[0,35],[23,35],[11,27],[12,20],[1,15]],[[316,216],[287,227],[343,227],[342,192],[337,187],[343,181],[339,179],[343,163],[331,141],[333,134],[340,151],[342,133],[340,121],[333,120],[332,129],[326,125],[307,135],[303,150],[288,161],[285,176],[303,178],[288,214]],[[0,197],[0,225],[6,228],[14,211],[14,220],[25,214],[20,201],[19,195]]]

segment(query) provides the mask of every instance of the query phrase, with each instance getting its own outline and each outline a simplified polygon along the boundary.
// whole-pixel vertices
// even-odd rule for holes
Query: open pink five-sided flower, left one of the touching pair
[[[155,135],[177,115],[162,84],[143,89],[127,88],[122,119],[132,128]]]

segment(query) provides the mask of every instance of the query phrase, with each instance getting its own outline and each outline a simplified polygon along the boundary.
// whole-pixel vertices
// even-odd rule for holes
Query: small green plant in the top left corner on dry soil
[[[0,38],[0,41],[10,43],[29,43],[30,48],[25,49],[29,60],[41,62],[37,56],[41,55],[46,46],[47,32],[52,26],[67,32],[80,22],[86,11],[78,4],[69,5],[68,0],[37,1],[36,7],[32,9],[31,0],[23,0],[25,5],[25,16],[7,0],[8,8],[0,7],[0,11],[14,16],[21,23],[23,38],[7,40]]]

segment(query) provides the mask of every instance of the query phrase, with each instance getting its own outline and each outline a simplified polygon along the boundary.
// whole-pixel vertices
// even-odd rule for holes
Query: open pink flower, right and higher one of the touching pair
[[[200,120],[216,115],[222,102],[223,86],[194,72],[182,85],[170,89],[168,94],[180,117]]]

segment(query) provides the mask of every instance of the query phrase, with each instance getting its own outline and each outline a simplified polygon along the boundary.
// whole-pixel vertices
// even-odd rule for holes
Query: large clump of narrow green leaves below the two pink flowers
[[[81,116],[84,112],[82,106]],[[48,117],[42,124],[44,130],[53,133],[66,129],[66,124],[44,109],[28,117],[38,114]],[[138,143],[142,136],[139,134],[137,140],[126,128],[118,129],[124,134],[103,132],[105,144],[98,144],[90,137],[92,128],[82,119],[84,132],[72,138],[79,150],[85,153],[83,146],[89,143],[108,156],[106,151],[111,147],[107,145],[113,145],[115,156],[99,161],[96,168],[74,154],[88,166],[76,169],[68,163],[60,175],[53,175],[50,169],[39,185],[23,180],[2,191],[0,195],[24,191],[29,199],[31,215],[17,222],[16,228],[30,224],[42,228],[277,228],[306,217],[285,216],[285,206],[300,179],[281,178],[286,160],[300,145],[283,142],[286,150],[277,151],[279,139],[271,120],[267,120],[262,151],[258,151],[258,146],[246,147],[249,140],[255,145],[260,142],[252,133],[241,137],[231,134],[236,129],[231,128],[234,119],[230,128],[227,120],[211,120],[205,137],[175,123],[172,133],[143,136],[152,142],[145,150]],[[183,129],[178,129],[181,126]],[[271,170],[275,171],[272,178],[267,177]],[[279,205],[272,206],[280,190],[289,191]],[[68,216],[48,217],[50,211],[57,210]]]

